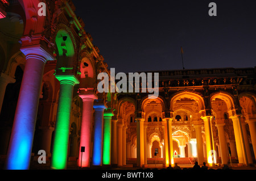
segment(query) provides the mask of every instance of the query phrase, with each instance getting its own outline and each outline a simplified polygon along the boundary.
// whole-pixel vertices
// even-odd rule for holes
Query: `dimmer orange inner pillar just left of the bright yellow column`
[[[203,150],[203,141],[202,141],[202,135],[201,135],[201,124],[194,125],[194,128],[196,129],[196,148],[197,148],[197,159],[198,164],[203,165],[204,163],[204,150]]]

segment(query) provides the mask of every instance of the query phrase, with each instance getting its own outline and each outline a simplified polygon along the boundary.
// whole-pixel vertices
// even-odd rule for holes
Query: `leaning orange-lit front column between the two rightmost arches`
[[[240,115],[229,116],[229,118],[232,119],[233,121],[234,136],[235,136],[236,146],[237,146],[238,162],[248,165],[247,155],[245,150],[245,142],[243,140],[243,134],[242,134]]]

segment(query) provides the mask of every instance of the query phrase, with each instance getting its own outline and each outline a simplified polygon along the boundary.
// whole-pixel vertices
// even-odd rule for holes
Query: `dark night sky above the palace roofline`
[[[217,16],[209,16],[210,2]],[[115,72],[256,66],[255,0],[73,0]]]

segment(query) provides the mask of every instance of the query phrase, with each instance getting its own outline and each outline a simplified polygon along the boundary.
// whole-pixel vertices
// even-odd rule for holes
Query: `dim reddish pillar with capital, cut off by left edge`
[[[0,76],[0,113],[2,110],[3,98],[5,97],[6,86],[9,83],[14,83],[15,81],[16,80],[14,78],[11,78],[9,75],[1,73],[1,76]]]

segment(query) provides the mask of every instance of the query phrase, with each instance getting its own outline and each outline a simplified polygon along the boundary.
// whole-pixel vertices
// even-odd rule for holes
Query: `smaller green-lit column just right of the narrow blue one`
[[[104,112],[104,125],[103,125],[103,165],[110,165],[111,158],[111,123],[112,112]]]

